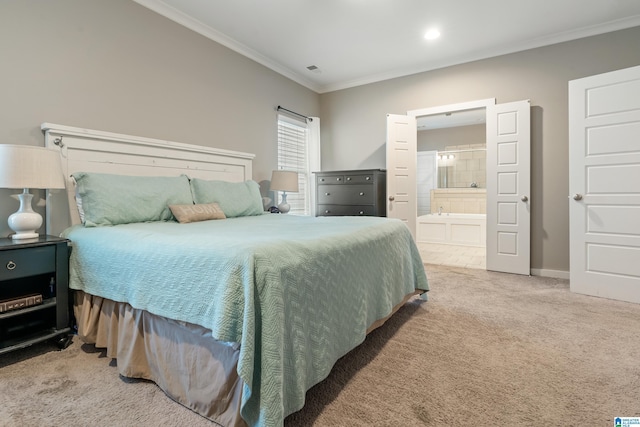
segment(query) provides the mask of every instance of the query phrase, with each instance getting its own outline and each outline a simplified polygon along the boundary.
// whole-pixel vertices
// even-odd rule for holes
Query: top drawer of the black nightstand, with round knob
[[[18,279],[56,271],[53,245],[0,252],[0,280]]]

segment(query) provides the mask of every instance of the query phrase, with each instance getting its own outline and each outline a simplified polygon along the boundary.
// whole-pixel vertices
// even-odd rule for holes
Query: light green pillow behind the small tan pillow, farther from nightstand
[[[217,203],[227,218],[264,213],[260,186],[255,181],[226,182],[193,178],[191,191],[196,204]]]

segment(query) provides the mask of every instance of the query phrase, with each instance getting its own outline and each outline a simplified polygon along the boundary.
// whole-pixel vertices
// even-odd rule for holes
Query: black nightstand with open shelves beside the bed
[[[69,247],[59,237],[0,239],[0,354],[69,335]]]

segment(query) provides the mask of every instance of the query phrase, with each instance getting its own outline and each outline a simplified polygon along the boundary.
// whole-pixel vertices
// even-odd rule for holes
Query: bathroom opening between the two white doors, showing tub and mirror
[[[486,268],[485,110],[417,117],[416,242],[426,262]]]

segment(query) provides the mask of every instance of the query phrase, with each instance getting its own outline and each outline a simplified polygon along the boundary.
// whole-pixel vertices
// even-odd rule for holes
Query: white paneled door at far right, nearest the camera
[[[571,290],[640,303],[640,67],[569,82]]]

